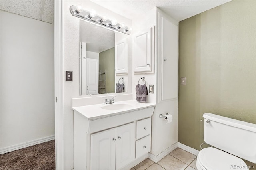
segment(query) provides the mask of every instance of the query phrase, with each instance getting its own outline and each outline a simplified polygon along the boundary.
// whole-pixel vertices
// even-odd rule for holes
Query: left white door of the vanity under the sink
[[[84,160],[86,161],[86,160]],[[114,170],[116,128],[91,135],[91,170]]]

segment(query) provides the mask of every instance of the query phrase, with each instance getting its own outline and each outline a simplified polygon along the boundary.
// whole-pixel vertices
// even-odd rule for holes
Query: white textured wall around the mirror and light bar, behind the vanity
[[[94,4],[88,0],[64,0],[63,1],[63,72],[65,70],[73,71],[73,81],[65,82],[63,80],[63,138],[64,138],[64,169],[73,168],[73,111],[71,109],[71,99],[77,97],[90,97],[79,95],[79,21],[70,13],[71,5],[81,5],[86,10],[94,9],[98,15],[105,15],[109,18],[116,18],[118,22],[124,22],[131,26],[131,20],[124,18],[102,6]],[[128,38],[128,46],[131,40]],[[130,64],[129,64],[130,63]],[[131,51],[128,51],[128,65],[131,65]],[[128,68],[130,71],[131,68]],[[130,80],[129,80],[130,79]],[[128,83],[131,83],[131,76],[128,77]],[[128,84],[128,86],[129,86]],[[129,92],[128,88],[128,93]],[[110,94],[111,95],[111,94]],[[102,95],[92,95],[102,96]],[[100,98],[102,99],[102,98]],[[102,99],[102,103],[104,99]]]

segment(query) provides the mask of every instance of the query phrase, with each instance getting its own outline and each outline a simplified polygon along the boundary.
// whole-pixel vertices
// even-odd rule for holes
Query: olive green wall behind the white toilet
[[[256,0],[179,22],[179,77],[187,82],[179,85],[178,142],[200,150],[204,113],[256,123],[255,23]]]

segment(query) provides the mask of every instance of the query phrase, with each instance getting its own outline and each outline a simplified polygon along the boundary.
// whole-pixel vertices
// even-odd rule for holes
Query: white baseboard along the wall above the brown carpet
[[[26,147],[29,147],[29,146],[36,145],[36,144],[48,142],[48,141],[54,140],[54,139],[55,139],[55,135],[52,135],[52,136],[47,136],[47,137],[44,137],[44,138],[24,142],[24,143],[21,143],[21,144],[8,146],[8,147],[5,147],[5,148],[0,148],[0,154],[5,154],[5,153],[8,153],[8,152],[12,152],[14,150],[19,150],[19,149],[22,149],[22,148],[26,148]]]

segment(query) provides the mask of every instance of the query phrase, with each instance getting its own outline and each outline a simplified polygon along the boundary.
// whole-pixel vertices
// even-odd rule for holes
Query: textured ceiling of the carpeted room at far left
[[[0,0],[0,10],[54,24],[54,0]]]

